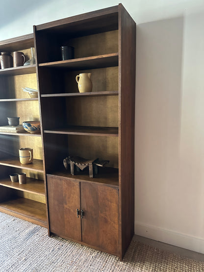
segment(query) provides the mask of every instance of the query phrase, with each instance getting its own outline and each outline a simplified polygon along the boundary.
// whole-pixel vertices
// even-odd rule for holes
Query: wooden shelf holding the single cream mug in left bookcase
[[[34,170],[34,171],[44,173],[43,161],[38,159],[33,159],[33,162],[30,164],[21,164],[19,161],[19,157],[13,157],[11,159],[4,159],[4,160],[1,159],[0,165],[12,166],[16,168]]]

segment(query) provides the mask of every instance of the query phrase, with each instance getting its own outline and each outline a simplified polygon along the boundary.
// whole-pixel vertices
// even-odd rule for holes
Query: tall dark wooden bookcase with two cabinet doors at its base
[[[75,198],[73,201],[77,199],[73,193],[73,182],[75,185],[80,184],[81,204],[84,204],[85,209],[86,206],[92,208],[90,219],[84,223],[84,228],[82,226],[83,241],[80,243],[112,252],[119,255],[120,259],[134,233],[135,26],[122,4],[34,26],[45,169],[51,174],[48,174],[48,181],[52,177],[53,184],[60,184],[62,180],[60,189],[53,184],[50,188],[51,191],[58,190],[58,200],[52,203],[52,214],[55,216],[57,213],[54,206],[58,203],[62,209],[67,209],[63,201],[69,196],[69,187]],[[116,35],[117,42],[105,42],[104,47],[108,44],[110,47],[103,52],[100,44],[103,34],[100,32],[112,30],[116,34],[108,34],[109,38],[111,40]],[[95,48],[89,49],[86,45],[83,52],[80,52],[82,41],[85,45],[91,40],[95,40],[95,43],[91,43]],[[60,61],[60,46],[71,41],[76,46],[77,59]],[[102,68],[103,66],[107,68]],[[118,90],[118,96],[78,94],[75,77],[81,71],[92,73],[93,82],[96,83],[94,92]],[[109,99],[111,103],[105,99]],[[70,125],[88,126],[89,130],[81,127],[78,130],[72,127],[70,130]],[[105,132],[106,129],[103,130],[105,134],[96,129],[90,131],[90,127],[94,126],[108,127],[109,132],[110,128],[118,127],[119,131],[117,137],[112,137],[112,134]],[[102,134],[103,137],[98,137]],[[115,179],[116,176],[112,176],[108,181],[106,175],[97,177],[98,180],[94,178],[96,182],[91,182],[86,173],[70,176],[70,173],[61,171],[63,158],[69,153],[87,159],[95,156],[110,159],[110,166],[119,166],[118,180]],[[71,185],[67,185],[67,182]],[[49,182],[47,185],[49,186]],[[53,192],[51,194],[48,201],[55,197]],[[81,208],[83,209],[82,205]],[[53,217],[52,225],[56,225],[51,232],[77,241],[78,237],[73,238],[76,233],[65,233],[62,209],[59,216],[61,223],[57,225],[58,218]],[[114,219],[108,214],[111,209]],[[72,227],[75,228],[75,225]],[[93,233],[97,235],[94,236]],[[108,239],[105,240],[106,233]]]

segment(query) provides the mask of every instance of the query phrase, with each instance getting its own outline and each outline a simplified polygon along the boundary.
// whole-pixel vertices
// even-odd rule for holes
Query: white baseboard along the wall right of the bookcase
[[[186,248],[204,254],[204,239],[188,236],[171,230],[146,225],[135,224],[135,234],[155,241],[163,242],[177,247]]]

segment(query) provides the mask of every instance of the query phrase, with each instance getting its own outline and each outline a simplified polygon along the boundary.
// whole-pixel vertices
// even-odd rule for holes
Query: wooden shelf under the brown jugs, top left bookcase
[[[35,65],[0,69],[0,75],[19,75],[19,74],[34,74],[34,73],[36,73]]]

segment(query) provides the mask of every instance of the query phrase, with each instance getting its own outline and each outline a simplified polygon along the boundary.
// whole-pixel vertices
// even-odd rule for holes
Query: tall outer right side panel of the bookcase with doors
[[[134,234],[134,116],[136,24],[119,4],[119,188],[122,259]],[[127,227],[128,226],[128,227]]]

